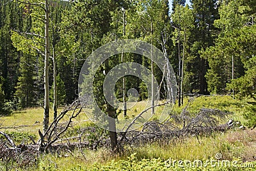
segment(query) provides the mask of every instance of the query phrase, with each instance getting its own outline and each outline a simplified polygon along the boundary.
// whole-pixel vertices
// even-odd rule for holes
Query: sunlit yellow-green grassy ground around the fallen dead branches
[[[233,100],[230,96],[201,96],[189,104],[188,101],[185,98],[181,107],[176,104],[172,114],[179,114],[186,106],[191,114],[198,113],[200,108],[218,108],[232,113],[223,123],[233,119],[244,125],[246,119],[243,115],[251,112],[250,103]],[[128,117],[139,114],[143,105],[144,102],[140,102],[134,106],[128,111]],[[39,138],[38,129],[42,130],[43,113],[43,108],[27,108],[1,116],[0,131],[7,133],[15,144],[29,144],[29,137],[35,140]],[[152,120],[157,120],[157,116]],[[68,115],[63,122],[67,118]],[[74,119],[75,130],[90,125],[92,122],[85,114]],[[35,163],[29,166],[0,160],[0,170],[255,170],[255,159],[256,130],[233,128],[210,135],[125,145],[120,154],[112,154],[108,147],[99,147],[97,150],[86,148],[40,154],[36,156]],[[194,161],[202,161],[203,165],[196,167]],[[227,162],[231,164],[227,166]]]

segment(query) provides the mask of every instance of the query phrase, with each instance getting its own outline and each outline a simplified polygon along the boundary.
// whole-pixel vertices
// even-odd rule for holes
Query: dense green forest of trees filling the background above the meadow
[[[45,1],[0,2],[0,114],[44,103],[45,26],[44,10],[36,5],[40,3]],[[51,103],[54,86],[58,106],[76,100],[86,57],[101,45],[127,38],[166,50],[177,78],[178,99],[188,93],[234,93],[236,98],[256,100],[253,0],[191,0],[191,6],[178,0],[172,4],[168,0],[49,0],[47,7]],[[163,73],[147,58],[125,53],[124,61],[153,68],[157,82],[161,82]],[[120,63],[121,59],[110,59],[109,67]],[[102,91],[104,67],[95,76],[100,89],[95,91]],[[136,89],[140,100],[147,98],[140,78],[127,76],[125,85],[127,90]],[[115,91],[122,100],[121,80]],[[165,98],[164,84],[161,93]],[[103,105],[102,94],[97,98]]]

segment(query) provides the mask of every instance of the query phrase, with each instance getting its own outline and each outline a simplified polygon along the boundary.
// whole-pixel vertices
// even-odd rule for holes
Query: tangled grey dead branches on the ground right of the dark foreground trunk
[[[129,144],[136,142],[150,142],[154,140],[168,140],[175,137],[212,133],[213,131],[225,131],[231,128],[231,124],[220,124],[230,113],[218,109],[202,108],[194,117],[187,110],[180,115],[171,115],[169,121],[159,123],[150,121],[143,125],[141,131],[131,131],[126,134],[125,141]]]

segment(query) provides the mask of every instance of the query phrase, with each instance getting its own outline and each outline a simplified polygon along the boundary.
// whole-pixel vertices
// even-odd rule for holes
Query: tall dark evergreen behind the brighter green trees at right
[[[192,8],[195,18],[193,31],[193,45],[191,45],[191,60],[188,63],[191,75],[191,90],[200,94],[208,94],[205,74],[209,68],[207,59],[200,57],[200,51],[214,45],[216,27],[214,20],[219,19],[218,4],[216,0],[192,0]]]

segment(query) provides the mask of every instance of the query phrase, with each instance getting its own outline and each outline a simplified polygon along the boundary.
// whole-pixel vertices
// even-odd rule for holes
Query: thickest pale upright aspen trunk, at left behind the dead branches
[[[49,6],[45,0],[44,133],[49,127]]]

